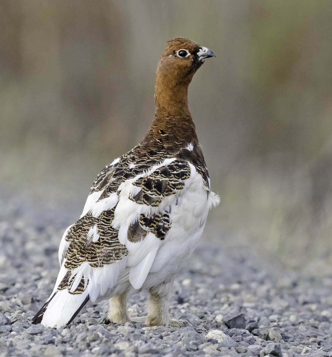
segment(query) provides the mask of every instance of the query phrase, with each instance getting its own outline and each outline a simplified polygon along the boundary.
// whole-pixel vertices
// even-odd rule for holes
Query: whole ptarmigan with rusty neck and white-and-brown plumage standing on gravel
[[[182,326],[170,318],[174,277],[219,203],[188,109],[188,86],[213,51],[175,37],[160,57],[155,115],[143,140],[97,176],[81,218],[63,234],[55,288],[33,323],[72,322],[87,301],[109,299],[108,322]],[[127,297],[148,290],[148,315],[131,318]]]

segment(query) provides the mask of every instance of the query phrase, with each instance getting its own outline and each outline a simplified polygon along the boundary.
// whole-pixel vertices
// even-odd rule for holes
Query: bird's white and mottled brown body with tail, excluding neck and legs
[[[200,149],[193,149],[142,154],[138,145],[105,167],[62,237],[61,269],[37,322],[60,327],[89,299],[109,298],[129,284],[153,286],[178,271],[218,204],[203,156],[197,160]]]

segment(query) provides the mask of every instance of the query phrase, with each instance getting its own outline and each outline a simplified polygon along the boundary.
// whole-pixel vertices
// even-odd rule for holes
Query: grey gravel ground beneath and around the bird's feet
[[[77,207],[3,195],[0,205],[0,357],[332,356],[332,275],[306,278],[248,247],[207,241],[180,271],[170,303],[191,325],[105,325],[106,303],[88,303],[59,330],[31,325],[53,289],[58,244]],[[132,297],[129,313],[144,314],[146,299]]]

